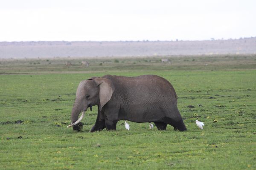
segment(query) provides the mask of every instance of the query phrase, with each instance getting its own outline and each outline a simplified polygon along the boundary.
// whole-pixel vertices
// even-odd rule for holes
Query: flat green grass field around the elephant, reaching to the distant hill
[[[86,68],[82,59],[1,60],[0,169],[255,170],[256,55],[170,59],[87,59]],[[90,133],[96,106],[81,133],[67,129],[79,82],[105,74],[169,80],[188,130],[128,122],[128,131],[119,121],[116,131]]]

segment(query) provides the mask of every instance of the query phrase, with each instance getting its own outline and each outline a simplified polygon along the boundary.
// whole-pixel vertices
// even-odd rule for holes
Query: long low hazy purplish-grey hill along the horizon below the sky
[[[256,37],[207,41],[0,42],[0,58],[256,54]]]

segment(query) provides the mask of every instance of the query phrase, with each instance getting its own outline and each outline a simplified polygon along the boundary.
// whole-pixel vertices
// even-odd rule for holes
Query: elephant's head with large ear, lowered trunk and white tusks
[[[77,124],[83,119],[87,108],[92,110],[92,106],[99,105],[101,110],[111,99],[114,90],[113,83],[109,79],[92,77],[81,81],[76,90],[76,100],[71,111],[71,124],[68,127],[73,126],[73,130],[79,130]],[[82,115],[78,119],[81,112]]]

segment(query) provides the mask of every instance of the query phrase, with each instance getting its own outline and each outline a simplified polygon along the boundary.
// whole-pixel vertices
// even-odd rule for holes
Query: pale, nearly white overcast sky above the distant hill
[[[0,41],[256,37],[256,0],[0,0]]]

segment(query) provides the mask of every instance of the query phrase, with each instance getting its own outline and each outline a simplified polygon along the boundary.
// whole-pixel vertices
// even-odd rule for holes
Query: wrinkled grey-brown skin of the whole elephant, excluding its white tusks
[[[98,116],[90,132],[116,130],[119,120],[154,122],[158,130],[167,124],[186,130],[177,108],[177,95],[172,85],[156,75],[122,77],[105,75],[81,81],[71,113],[71,122],[79,113],[98,105]],[[73,126],[77,130],[78,125]]]

